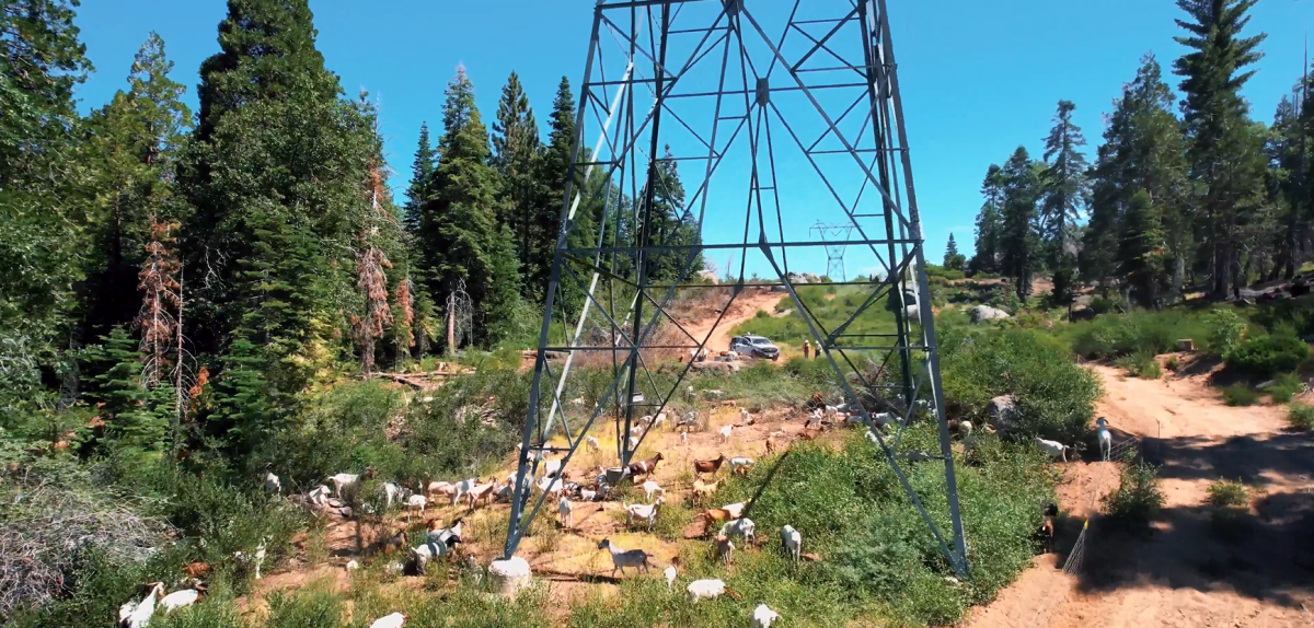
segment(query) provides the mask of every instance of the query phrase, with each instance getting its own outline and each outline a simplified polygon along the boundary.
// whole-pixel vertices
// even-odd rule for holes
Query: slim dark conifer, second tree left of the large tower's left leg
[[[493,122],[493,166],[502,177],[498,223],[510,227],[519,264],[530,264],[530,230],[539,192],[533,169],[539,156],[539,125],[520,78],[511,72],[502,88],[497,121]]]

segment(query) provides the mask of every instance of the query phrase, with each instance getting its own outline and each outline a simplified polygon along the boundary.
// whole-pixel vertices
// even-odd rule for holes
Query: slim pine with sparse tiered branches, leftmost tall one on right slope
[[[1091,194],[1085,179],[1088,166],[1080,151],[1085,138],[1081,127],[1072,122],[1075,109],[1071,101],[1059,101],[1054,129],[1045,139],[1046,168],[1041,177],[1041,225],[1049,240],[1050,267],[1054,271],[1054,302],[1070,306],[1076,279],[1076,242],[1072,234]]]

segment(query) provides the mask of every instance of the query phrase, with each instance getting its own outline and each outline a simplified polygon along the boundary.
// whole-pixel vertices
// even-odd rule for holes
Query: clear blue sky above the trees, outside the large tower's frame
[[[560,78],[578,89],[593,14],[589,0],[310,5],[319,50],[346,92],[355,96],[364,87],[381,99],[381,129],[398,191],[406,185],[420,122],[440,126],[443,88],[457,64],[464,63],[474,81],[486,122],[515,70],[543,129]],[[767,12],[792,3],[746,5]],[[1093,159],[1102,114],[1141,56],[1152,51],[1168,71],[1181,54],[1172,41],[1180,33],[1173,24],[1180,12],[1169,0],[890,0],[890,11],[932,261],[942,256],[950,231],[964,252],[971,248],[986,168],[1018,145],[1038,156],[1059,99],[1076,102]],[[133,55],[151,30],[164,38],[176,63],[173,78],[188,85],[194,108],[197,68],[218,50],[215,26],[225,13],[223,0],[85,1],[78,24],[96,74],[79,91],[81,108],[100,106],[125,85]],[[1252,16],[1250,33],[1264,32],[1268,41],[1246,96],[1254,116],[1268,122],[1300,76],[1314,1],[1261,0]],[[728,223],[707,225],[708,231],[723,229]]]

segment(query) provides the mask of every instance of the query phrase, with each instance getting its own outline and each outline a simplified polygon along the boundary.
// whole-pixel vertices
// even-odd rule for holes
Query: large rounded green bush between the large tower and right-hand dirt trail
[[[976,336],[946,352],[941,364],[950,414],[975,422],[992,398],[1013,394],[1024,436],[1081,440],[1101,394],[1093,373],[1074,364],[1055,339],[1031,331]]]

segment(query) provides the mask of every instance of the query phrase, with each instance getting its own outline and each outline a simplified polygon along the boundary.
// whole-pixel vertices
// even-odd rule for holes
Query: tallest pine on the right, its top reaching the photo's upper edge
[[[1250,22],[1246,14],[1257,0],[1177,0],[1190,21],[1177,20],[1189,35],[1175,37],[1190,49],[1173,63],[1183,78],[1181,110],[1189,138],[1190,176],[1200,193],[1201,242],[1213,272],[1213,298],[1225,298],[1227,288],[1239,292],[1238,255],[1243,208],[1259,192],[1260,180],[1250,179],[1247,155],[1251,145],[1248,105],[1240,88],[1255,74],[1246,71],[1263,53],[1264,34],[1242,37]]]

